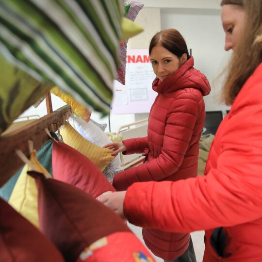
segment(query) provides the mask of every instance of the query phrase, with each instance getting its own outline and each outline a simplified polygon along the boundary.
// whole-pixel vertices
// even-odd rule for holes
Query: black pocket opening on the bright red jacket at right
[[[227,235],[222,227],[213,230],[210,242],[219,257],[229,258],[232,255],[231,253],[225,253]]]

